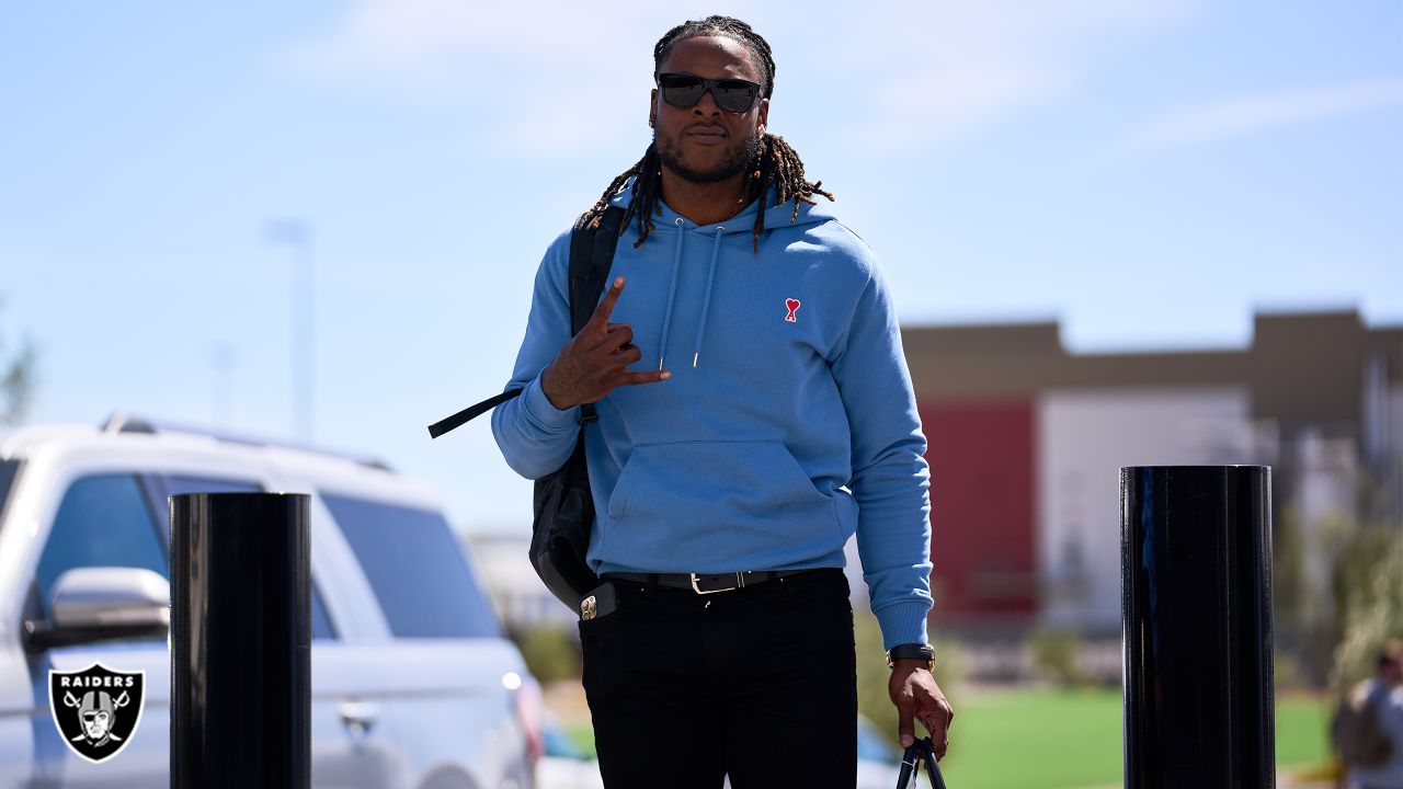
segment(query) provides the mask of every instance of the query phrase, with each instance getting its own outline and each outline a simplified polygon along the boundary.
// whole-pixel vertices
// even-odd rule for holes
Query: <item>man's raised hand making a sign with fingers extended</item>
[[[556,361],[542,372],[540,387],[561,411],[581,403],[596,403],[620,386],[655,383],[672,376],[665,369],[627,369],[643,358],[643,352],[633,344],[633,329],[627,323],[609,323],[620,293],[623,277],[613,281],[589,316],[589,323],[561,345]]]

